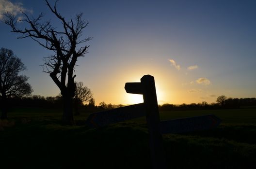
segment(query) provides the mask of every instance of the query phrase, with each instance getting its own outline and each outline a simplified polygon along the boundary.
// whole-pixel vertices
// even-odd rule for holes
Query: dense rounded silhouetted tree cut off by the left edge
[[[29,96],[32,93],[32,87],[27,83],[29,78],[18,75],[23,70],[26,70],[26,67],[12,50],[0,49],[1,119],[7,118],[8,98]]]

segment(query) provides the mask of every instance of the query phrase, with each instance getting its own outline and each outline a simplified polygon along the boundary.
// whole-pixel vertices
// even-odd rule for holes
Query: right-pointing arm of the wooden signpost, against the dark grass
[[[210,114],[204,116],[161,121],[160,129],[162,134],[183,133],[215,128],[220,123],[221,119],[213,114]]]

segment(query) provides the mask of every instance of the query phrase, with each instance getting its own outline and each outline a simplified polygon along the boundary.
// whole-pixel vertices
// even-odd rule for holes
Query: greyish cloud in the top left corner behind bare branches
[[[0,0],[0,20],[3,19],[3,14],[6,12],[12,13],[16,16],[21,14],[21,11],[32,13],[32,10],[24,8],[21,2],[13,3],[10,0]],[[20,21],[19,19],[20,17],[18,18],[18,21]]]

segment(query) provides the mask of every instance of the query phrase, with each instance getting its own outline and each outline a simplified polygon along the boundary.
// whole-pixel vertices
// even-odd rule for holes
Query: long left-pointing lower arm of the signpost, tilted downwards
[[[92,113],[89,115],[86,123],[90,127],[103,127],[145,115],[144,103],[139,103],[104,112]]]

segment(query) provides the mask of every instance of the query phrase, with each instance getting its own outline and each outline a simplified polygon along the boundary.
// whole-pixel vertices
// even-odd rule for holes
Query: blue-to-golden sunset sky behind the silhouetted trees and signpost
[[[21,16],[20,9],[62,26],[44,0],[0,0],[0,19],[6,10]],[[155,77],[159,104],[256,97],[256,0],[59,0],[57,9],[66,19],[82,12],[89,22],[83,37],[93,40],[84,44],[89,53],[75,80],[92,90],[96,105],[143,102],[124,86],[145,74]],[[51,52],[10,31],[0,23],[0,47],[26,65],[32,94],[58,95],[39,66]]]

